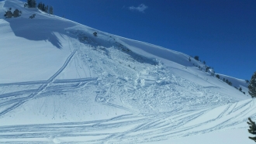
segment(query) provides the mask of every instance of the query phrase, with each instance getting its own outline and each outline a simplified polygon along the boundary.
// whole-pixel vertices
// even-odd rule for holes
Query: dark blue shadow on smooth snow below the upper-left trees
[[[35,41],[49,41],[58,49],[62,48],[62,44],[55,33],[63,35],[66,33],[64,28],[73,26],[71,23],[54,19],[6,19],[6,21],[10,23],[16,36]]]

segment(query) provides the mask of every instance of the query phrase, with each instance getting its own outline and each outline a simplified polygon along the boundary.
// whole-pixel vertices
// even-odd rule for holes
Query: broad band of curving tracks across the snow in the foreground
[[[244,105],[248,103],[250,105]],[[79,143],[81,137],[84,138],[81,143],[161,141],[232,129],[232,126],[246,122],[247,118],[243,118],[244,115],[248,115],[255,108],[255,101],[240,101],[219,108],[177,115],[171,112],[161,112],[147,115],[119,115],[114,118],[88,122],[1,126],[0,142],[15,142],[15,139],[19,139],[18,143],[50,142],[50,138],[54,138],[63,143]],[[206,120],[202,121],[201,118]],[[33,141],[33,139],[40,140]]]

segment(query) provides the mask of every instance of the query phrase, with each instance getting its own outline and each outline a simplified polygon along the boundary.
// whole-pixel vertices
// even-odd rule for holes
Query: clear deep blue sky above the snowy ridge
[[[251,80],[256,71],[255,0],[36,2],[85,26],[197,55],[216,73]]]

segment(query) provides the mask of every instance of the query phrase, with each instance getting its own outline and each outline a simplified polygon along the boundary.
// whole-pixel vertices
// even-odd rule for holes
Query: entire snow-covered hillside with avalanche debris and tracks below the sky
[[[229,78],[243,94],[187,54],[23,5],[0,2],[0,142],[253,143],[245,81]]]

